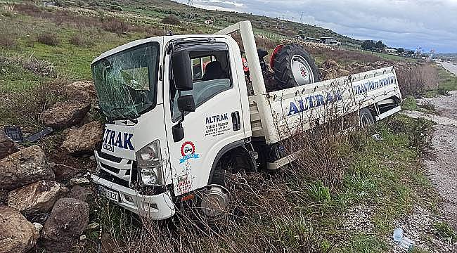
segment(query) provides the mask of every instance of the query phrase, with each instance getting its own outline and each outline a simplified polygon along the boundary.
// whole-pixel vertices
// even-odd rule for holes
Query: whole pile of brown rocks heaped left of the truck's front
[[[96,103],[94,84],[68,84],[65,98],[43,112],[43,122],[64,129],[64,154],[91,154],[103,134],[103,124],[88,115]],[[49,162],[38,145],[21,147],[0,131],[0,253],[34,247],[69,252],[79,242],[89,222],[86,199],[91,191],[89,174],[79,178],[78,172]]]

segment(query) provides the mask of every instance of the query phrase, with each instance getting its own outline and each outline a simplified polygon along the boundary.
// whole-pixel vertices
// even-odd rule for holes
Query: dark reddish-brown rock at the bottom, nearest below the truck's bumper
[[[49,252],[68,252],[89,223],[89,205],[72,197],[56,202],[44,223],[41,239]]]

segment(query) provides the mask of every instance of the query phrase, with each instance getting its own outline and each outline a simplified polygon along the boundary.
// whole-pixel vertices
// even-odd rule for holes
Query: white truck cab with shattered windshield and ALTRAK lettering
[[[189,63],[172,63],[180,51]],[[132,212],[167,219],[176,197],[208,186],[217,157],[252,136],[243,65],[235,63],[236,41],[208,34],[142,39],[96,58],[91,68],[108,119],[95,151],[98,189]],[[176,89],[174,68],[181,67],[191,70],[191,90]],[[179,110],[186,96],[193,112]]]

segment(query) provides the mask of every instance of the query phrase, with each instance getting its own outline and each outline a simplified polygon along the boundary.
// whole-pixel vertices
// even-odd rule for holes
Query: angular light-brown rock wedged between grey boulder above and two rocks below
[[[54,181],[38,181],[8,193],[8,206],[26,217],[48,212],[63,195],[65,186]]]

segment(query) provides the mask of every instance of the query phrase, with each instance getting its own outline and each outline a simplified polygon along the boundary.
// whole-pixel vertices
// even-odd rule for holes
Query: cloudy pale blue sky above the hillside
[[[186,0],[176,0],[186,4]],[[193,6],[238,11],[326,27],[387,46],[457,53],[457,0],[193,0]]]

